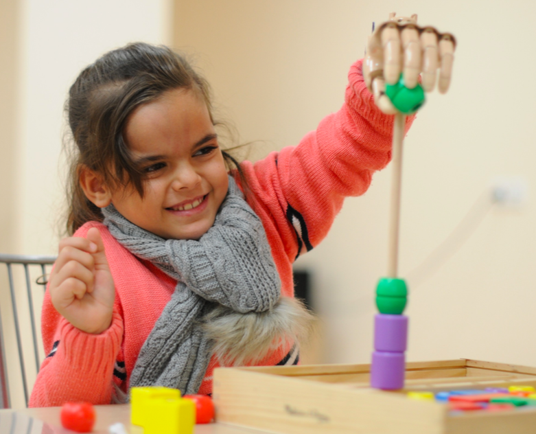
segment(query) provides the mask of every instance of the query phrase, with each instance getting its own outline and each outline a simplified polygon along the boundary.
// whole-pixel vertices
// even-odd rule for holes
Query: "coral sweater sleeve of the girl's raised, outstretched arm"
[[[406,118],[406,132],[414,118]],[[288,260],[318,245],[344,198],[364,194],[373,173],[391,161],[393,124],[394,115],[375,106],[358,60],[349,71],[339,111],[325,117],[298,146],[272,152],[255,164],[242,163],[255,196],[252,206],[269,216]]]

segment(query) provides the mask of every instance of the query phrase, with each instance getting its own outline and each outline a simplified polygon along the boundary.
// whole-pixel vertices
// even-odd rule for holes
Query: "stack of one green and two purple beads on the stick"
[[[408,290],[402,279],[380,279],[376,304],[380,314],[374,318],[374,352],[372,354],[371,386],[396,390],[404,387],[408,317],[401,315],[406,308]]]

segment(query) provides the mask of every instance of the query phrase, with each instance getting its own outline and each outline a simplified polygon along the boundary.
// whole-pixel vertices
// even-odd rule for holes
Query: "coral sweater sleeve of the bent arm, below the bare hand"
[[[76,236],[84,236],[77,232]],[[54,407],[67,401],[110,404],[113,372],[123,341],[124,318],[115,298],[110,327],[101,334],[75,328],[54,308],[47,288],[41,312],[45,361],[36,378],[29,407]]]

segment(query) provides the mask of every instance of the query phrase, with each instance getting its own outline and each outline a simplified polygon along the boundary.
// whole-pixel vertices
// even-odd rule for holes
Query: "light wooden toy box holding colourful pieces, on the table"
[[[408,363],[402,391],[369,387],[370,365],[215,369],[218,422],[284,434],[534,434],[536,407],[452,412],[411,390],[531,385],[536,368],[467,359]]]

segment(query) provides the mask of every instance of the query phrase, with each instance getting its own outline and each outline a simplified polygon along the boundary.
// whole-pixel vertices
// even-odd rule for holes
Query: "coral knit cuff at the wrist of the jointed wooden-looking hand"
[[[345,100],[347,104],[353,109],[356,109],[356,111],[358,111],[369,124],[374,126],[378,133],[391,137],[393,134],[395,116],[386,115],[378,109],[374,102],[374,96],[369,92],[369,89],[366,89],[362,65],[363,59],[360,59],[350,67]],[[406,133],[414,119],[415,114],[406,117]]]

